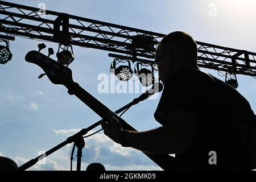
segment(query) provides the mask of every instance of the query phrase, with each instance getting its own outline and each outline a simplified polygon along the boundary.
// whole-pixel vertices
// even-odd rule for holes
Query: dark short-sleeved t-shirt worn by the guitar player
[[[165,125],[168,113],[178,110],[193,116],[196,133],[191,148],[176,154],[176,169],[250,169],[246,141],[255,115],[236,89],[199,69],[176,72],[154,116]]]

